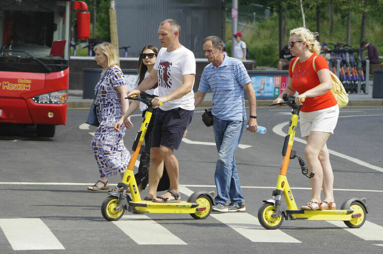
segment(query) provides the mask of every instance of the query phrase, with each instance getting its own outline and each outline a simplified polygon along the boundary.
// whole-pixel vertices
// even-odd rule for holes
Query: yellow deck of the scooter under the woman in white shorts
[[[288,220],[312,221],[350,221],[360,217],[354,210],[286,210],[286,214]]]

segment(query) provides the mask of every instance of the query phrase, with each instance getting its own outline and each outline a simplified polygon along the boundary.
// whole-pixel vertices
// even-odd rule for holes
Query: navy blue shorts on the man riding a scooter
[[[152,147],[163,145],[177,150],[193,113],[192,110],[181,108],[169,111],[157,109],[152,130]]]

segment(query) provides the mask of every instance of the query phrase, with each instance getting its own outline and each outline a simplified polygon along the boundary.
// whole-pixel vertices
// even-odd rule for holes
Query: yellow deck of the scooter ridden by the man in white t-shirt
[[[198,203],[189,203],[188,201],[180,201],[180,202],[153,202],[153,201],[140,201],[133,202],[130,201],[129,205],[134,207],[136,212],[143,213],[195,213],[196,208],[200,205]]]

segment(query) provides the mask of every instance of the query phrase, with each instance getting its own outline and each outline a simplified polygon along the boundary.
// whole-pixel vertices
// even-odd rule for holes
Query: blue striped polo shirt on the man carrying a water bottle
[[[221,120],[246,121],[243,86],[250,82],[249,74],[241,60],[225,56],[218,68],[210,63],[203,69],[198,91],[207,93],[211,88],[214,117]]]

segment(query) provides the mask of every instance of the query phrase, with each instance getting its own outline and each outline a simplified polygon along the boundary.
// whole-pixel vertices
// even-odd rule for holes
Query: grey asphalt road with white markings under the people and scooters
[[[212,127],[196,109],[185,139],[175,152],[180,162],[182,197],[196,190],[214,191],[216,148]],[[194,220],[188,214],[125,213],[117,223],[100,213],[105,191],[91,192],[98,172],[84,125],[88,109],[68,110],[68,124],[53,138],[35,129],[0,129],[0,253],[381,253],[383,251],[383,108],[341,109],[335,134],[327,143],[335,176],[335,200],[366,197],[366,224],[349,230],[343,222],[285,221],[277,231],[258,225],[262,200],[271,198],[282,162],[288,108],[258,108],[266,134],[244,131],[236,161],[246,198],[246,211],[211,214]],[[140,114],[124,137],[131,149]],[[297,132],[293,149],[303,156]],[[186,142],[187,141],[187,142]],[[194,141],[194,142],[193,142]],[[195,142],[205,142],[199,144]],[[119,177],[109,180],[117,183]],[[310,184],[291,160],[287,178],[297,202],[310,198]],[[142,194],[144,196],[146,192]],[[31,237],[31,235],[33,237]],[[44,250],[45,249],[45,250]]]

